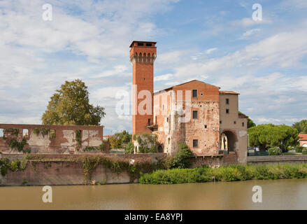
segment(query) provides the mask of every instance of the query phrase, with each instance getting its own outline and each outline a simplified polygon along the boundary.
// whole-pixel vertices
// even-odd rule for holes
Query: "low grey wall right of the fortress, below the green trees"
[[[307,163],[307,155],[248,156],[248,165],[285,165]]]

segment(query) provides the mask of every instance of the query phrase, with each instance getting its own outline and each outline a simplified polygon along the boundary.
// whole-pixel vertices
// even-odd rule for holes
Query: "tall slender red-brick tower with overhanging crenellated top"
[[[151,133],[148,126],[153,123],[153,64],[157,55],[156,43],[132,41],[130,45],[130,62],[133,73],[132,85],[134,86],[132,91],[132,136],[140,133]],[[145,96],[142,96],[143,99],[138,99],[140,97],[139,92],[142,90],[150,92],[151,108],[143,107],[147,111],[150,109],[150,113],[140,114],[138,111],[139,104],[145,99]],[[142,92],[141,95],[143,95]]]

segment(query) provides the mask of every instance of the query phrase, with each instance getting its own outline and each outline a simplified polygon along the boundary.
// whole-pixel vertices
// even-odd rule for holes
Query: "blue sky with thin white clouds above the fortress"
[[[52,20],[43,20],[43,5]],[[253,20],[262,6],[262,20]],[[306,0],[0,0],[0,123],[41,124],[65,80],[103,106],[103,134],[131,132],[131,41],[157,41],[155,90],[201,80],[239,92],[256,124],[307,119]]]

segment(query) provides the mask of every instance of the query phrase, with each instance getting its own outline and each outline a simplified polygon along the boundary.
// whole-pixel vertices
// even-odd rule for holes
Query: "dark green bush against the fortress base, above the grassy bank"
[[[169,168],[189,168],[192,165],[190,157],[193,155],[187,144],[178,142],[179,150],[171,158],[169,158],[166,163]]]

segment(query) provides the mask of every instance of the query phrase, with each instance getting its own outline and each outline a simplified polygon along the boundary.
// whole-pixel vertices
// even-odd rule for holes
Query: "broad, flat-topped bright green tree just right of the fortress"
[[[297,130],[287,125],[257,125],[248,128],[248,134],[250,145],[259,146],[260,151],[278,146],[283,152],[286,152],[289,146],[297,146],[299,143]]]

